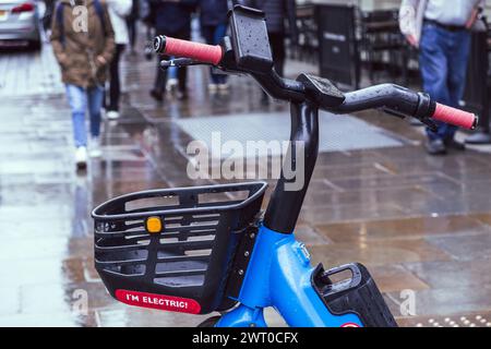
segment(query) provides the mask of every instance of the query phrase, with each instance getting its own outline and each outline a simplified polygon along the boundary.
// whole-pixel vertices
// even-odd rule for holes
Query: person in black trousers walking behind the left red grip
[[[155,23],[156,35],[166,35],[175,38],[189,40],[191,38],[191,14],[196,8],[196,0],[149,0],[152,17]],[[161,101],[167,84],[167,71],[160,69],[160,60],[169,59],[166,56],[157,58],[157,75],[151,96]],[[187,68],[178,70],[178,93],[179,99],[188,97]]]

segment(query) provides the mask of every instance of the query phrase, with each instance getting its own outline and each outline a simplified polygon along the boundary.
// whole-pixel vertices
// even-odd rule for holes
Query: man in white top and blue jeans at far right
[[[423,89],[436,101],[458,107],[464,95],[470,52],[470,28],[483,0],[404,0],[400,29],[420,51]],[[457,128],[438,122],[438,131],[427,129],[426,149],[445,155],[448,148],[464,151],[455,141]]]

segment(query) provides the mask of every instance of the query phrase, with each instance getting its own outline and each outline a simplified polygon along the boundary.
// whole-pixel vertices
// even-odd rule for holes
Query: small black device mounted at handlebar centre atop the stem
[[[339,107],[345,101],[345,95],[330,80],[311,74],[300,74],[297,81],[306,88],[308,97],[321,108]]]

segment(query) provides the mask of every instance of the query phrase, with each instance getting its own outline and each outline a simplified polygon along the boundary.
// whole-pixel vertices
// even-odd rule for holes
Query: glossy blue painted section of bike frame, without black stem
[[[312,286],[310,254],[295,234],[261,226],[239,298],[217,327],[266,327],[264,308],[273,306],[294,327],[359,326],[355,314],[334,315]]]

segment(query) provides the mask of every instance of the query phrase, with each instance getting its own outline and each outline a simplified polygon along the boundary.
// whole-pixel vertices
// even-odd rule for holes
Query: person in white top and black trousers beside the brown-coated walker
[[[115,31],[116,50],[109,64],[109,105],[106,117],[109,120],[119,118],[119,99],[121,96],[121,79],[119,74],[119,62],[124,48],[130,44],[127,16],[132,9],[132,0],[106,0],[109,9],[109,17]]]

